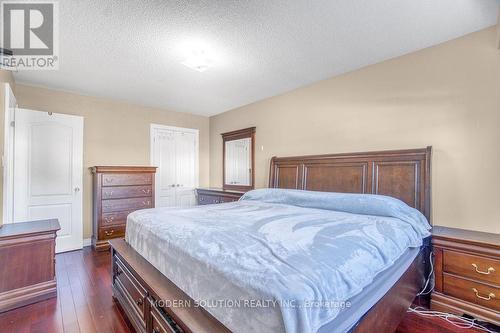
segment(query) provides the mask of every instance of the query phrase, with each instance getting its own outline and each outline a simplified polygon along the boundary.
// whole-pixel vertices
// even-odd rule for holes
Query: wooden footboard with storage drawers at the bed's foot
[[[156,333],[231,333],[208,311],[178,289],[123,239],[112,239],[113,294],[137,332]],[[126,277],[127,280],[123,278]],[[122,281],[127,281],[124,286]],[[130,282],[130,283],[129,283]],[[134,303],[144,291],[144,319]],[[133,297],[128,297],[131,294]],[[159,301],[157,301],[159,300]],[[167,307],[176,300],[186,307]]]

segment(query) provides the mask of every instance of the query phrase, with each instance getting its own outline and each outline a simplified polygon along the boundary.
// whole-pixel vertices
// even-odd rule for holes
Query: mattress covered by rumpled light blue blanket
[[[323,333],[349,330],[428,229],[393,198],[255,190],[235,203],[136,211],[126,241],[234,332]]]

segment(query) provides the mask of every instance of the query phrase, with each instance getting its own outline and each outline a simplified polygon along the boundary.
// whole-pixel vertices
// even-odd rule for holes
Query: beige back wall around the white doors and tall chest
[[[88,167],[149,165],[151,123],[200,130],[200,185],[208,185],[209,120],[207,117],[20,84],[16,86],[16,97],[21,108],[84,117],[84,238],[90,238],[92,234],[92,177]]]

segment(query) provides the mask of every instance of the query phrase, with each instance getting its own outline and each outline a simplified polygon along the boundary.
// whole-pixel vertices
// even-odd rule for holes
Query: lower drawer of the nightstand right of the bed
[[[500,311],[500,288],[446,273],[443,277],[445,294]]]

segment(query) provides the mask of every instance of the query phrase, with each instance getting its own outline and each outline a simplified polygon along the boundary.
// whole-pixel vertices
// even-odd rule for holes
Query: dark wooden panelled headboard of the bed
[[[431,221],[431,147],[273,157],[269,187],[382,194],[420,210]]]

